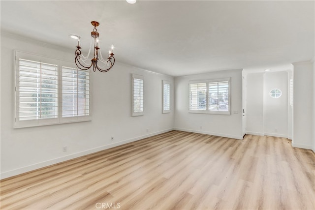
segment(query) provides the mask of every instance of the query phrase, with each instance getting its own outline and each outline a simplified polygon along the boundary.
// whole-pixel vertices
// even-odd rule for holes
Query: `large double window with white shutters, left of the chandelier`
[[[15,128],[91,120],[89,71],[62,67],[63,64],[75,65],[15,51]],[[67,100],[72,100],[72,108],[63,103]],[[65,112],[70,109],[72,115]]]

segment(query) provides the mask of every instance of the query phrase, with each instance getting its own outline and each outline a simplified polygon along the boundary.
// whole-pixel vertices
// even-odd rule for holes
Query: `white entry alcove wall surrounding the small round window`
[[[270,97],[270,90],[275,88],[282,90],[280,98]],[[288,72],[247,73],[247,91],[247,133],[290,137]]]

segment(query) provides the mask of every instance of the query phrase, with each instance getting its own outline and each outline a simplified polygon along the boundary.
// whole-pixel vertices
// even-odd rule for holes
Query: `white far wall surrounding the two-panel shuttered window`
[[[231,115],[189,113],[189,81],[231,77]],[[242,69],[175,78],[175,129],[242,139]],[[237,112],[237,114],[236,114]]]

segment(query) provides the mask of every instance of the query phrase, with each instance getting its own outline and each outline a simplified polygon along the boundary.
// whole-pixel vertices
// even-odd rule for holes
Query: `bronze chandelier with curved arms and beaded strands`
[[[91,32],[91,43],[90,43],[90,49],[87,56],[83,56],[81,53],[81,47],[80,47],[80,36],[77,35],[69,35],[71,38],[75,38],[78,40],[78,46],[76,46],[75,50],[75,64],[78,66],[78,68],[82,70],[88,70],[91,67],[93,67],[93,71],[95,72],[96,69],[101,72],[107,72],[109,69],[111,69],[115,63],[114,58],[114,46],[111,46],[111,50],[109,51],[109,57],[105,60],[101,54],[100,48],[98,47],[98,36],[99,33],[97,32],[96,27],[99,26],[99,23],[96,21],[92,21],[91,24],[94,26],[93,31]],[[93,58],[90,58],[92,44],[94,46],[93,50]],[[87,63],[91,59],[91,64]],[[100,62],[99,62],[100,61]],[[101,64],[100,64],[101,63]],[[98,65],[100,64],[100,65]]]

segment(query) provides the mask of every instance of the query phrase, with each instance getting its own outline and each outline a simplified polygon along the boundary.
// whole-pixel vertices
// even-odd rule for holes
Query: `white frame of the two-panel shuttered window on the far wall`
[[[209,110],[209,83],[228,82],[228,110]],[[206,110],[190,109],[190,85],[206,83]],[[231,115],[231,78],[210,79],[210,80],[191,80],[188,84],[188,112],[196,114],[214,114],[214,115]]]

